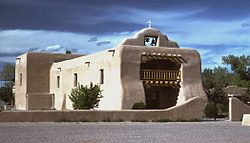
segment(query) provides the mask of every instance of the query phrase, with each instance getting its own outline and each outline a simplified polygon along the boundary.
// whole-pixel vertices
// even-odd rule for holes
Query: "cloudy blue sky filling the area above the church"
[[[1,0],[0,69],[27,51],[90,54],[115,47],[153,21],[202,67],[250,55],[249,0]]]

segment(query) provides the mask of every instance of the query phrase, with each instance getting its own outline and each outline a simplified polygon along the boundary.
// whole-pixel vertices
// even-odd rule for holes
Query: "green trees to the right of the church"
[[[224,88],[229,85],[250,89],[250,56],[228,55],[222,57],[223,64],[229,65],[231,71],[223,67],[205,68],[202,72],[202,84],[209,102],[215,104],[222,113],[228,112],[228,97]],[[250,101],[250,92],[243,95],[242,101]],[[212,106],[212,105],[209,105]],[[208,107],[210,108],[210,107]]]

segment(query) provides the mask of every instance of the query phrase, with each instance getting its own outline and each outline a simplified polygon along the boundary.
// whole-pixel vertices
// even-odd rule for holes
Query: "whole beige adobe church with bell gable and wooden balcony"
[[[151,27],[90,55],[25,53],[16,58],[15,74],[18,110],[72,110],[72,88],[90,82],[103,90],[97,110],[131,109],[141,101],[147,109],[168,109],[207,100],[198,51],[180,48]]]

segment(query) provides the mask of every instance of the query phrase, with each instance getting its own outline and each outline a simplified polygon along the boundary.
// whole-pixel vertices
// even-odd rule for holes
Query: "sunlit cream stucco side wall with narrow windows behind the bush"
[[[104,70],[104,84],[100,84],[100,69]],[[55,108],[72,109],[69,99],[74,88],[74,73],[78,74],[78,82],[89,85],[90,82],[101,85],[103,98],[100,109],[121,109],[122,88],[120,79],[120,53],[102,51],[68,61],[54,63],[50,72],[50,93],[55,94]],[[60,88],[57,87],[57,76],[60,76]]]

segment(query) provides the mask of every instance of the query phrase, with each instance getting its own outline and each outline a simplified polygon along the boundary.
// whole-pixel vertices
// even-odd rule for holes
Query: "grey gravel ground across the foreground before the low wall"
[[[0,143],[250,143],[240,122],[0,123]]]

